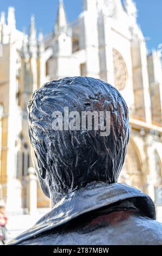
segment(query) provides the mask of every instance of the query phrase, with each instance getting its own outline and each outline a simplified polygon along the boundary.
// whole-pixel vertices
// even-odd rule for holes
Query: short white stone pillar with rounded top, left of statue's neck
[[[36,213],[37,209],[37,178],[33,167],[28,169],[27,176],[27,206],[30,215]]]

